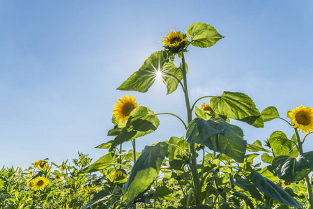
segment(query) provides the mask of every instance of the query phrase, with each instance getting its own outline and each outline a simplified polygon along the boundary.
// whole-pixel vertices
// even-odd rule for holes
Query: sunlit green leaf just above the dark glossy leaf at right
[[[284,132],[276,131],[270,134],[270,148],[273,149],[275,156],[279,155],[288,155],[291,157],[298,156],[298,150],[293,141],[287,138],[287,135]]]

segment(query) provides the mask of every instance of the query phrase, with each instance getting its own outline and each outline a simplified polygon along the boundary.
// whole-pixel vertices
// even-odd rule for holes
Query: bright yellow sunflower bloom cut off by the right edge
[[[313,131],[313,109],[312,107],[296,107],[287,112],[287,118],[291,119],[291,125],[303,133]]]

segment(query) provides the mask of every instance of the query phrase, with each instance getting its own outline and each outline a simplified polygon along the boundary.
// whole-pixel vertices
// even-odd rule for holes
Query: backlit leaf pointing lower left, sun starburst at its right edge
[[[156,72],[161,71],[167,61],[167,53],[158,51],[151,54],[141,68],[134,72],[119,88],[124,91],[139,91],[145,93],[155,81]]]

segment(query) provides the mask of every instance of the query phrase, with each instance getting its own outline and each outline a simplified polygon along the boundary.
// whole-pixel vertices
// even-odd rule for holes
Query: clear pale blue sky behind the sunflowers
[[[78,151],[97,160],[105,150],[94,147],[112,139],[113,105],[125,94],[185,119],[181,89],[166,95],[161,81],[148,93],[116,88],[162,50],[167,33],[194,22],[226,38],[185,55],[191,101],[239,91],[284,118],[294,106],[313,106],[312,10],[312,1],[0,1],[0,166],[26,169],[46,157],[61,164]],[[159,119],[138,150],[185,134],[176,118]],[[279,120],[261,129],[231,123],[248,143],[275,130],[293,134]]]

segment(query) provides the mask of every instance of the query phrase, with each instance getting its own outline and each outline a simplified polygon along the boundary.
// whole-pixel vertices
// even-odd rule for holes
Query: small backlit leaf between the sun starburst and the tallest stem
[[[171,61],[164,63],[162,68],[162,80],[165,86],[167,86],[167,94],[173,93],[176,90],[179,84],[178,79],[179,81],[183,79],[181,68],[177,68]]]

